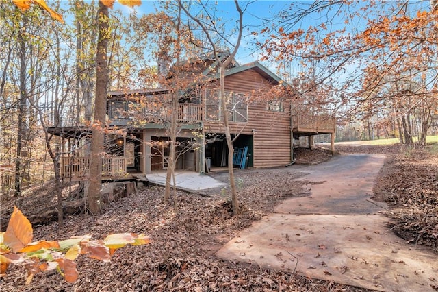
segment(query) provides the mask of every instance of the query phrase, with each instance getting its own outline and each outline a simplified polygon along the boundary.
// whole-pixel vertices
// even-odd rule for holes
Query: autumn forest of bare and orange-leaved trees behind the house
[[[37,8],[22,12],[10,1],[1,3],[2,193],[53,178],[52,138],[44,127],[88,125],[93,118],[98,5],[48,3],[65,24]],[[107,90],[157,85],[157,60],[175,51],[176,37],[166,36],[176,36],[179,9],[155,4],[155,14],[142,16],[111,10]],[[205,19],[220,10],[185,5],[205,9]],[[262,61],[278,64],[277,73],[298,93],[300,110],[338,117],[338,141],[399,138],[410,145],[416,137],[422,144],[438,131],[436,10],[436,1],[292,2],[276,20],[259,29],[244,25],[244,31],[254,36]],[[249,12],[250,3],[244,16]],[[313,24],[301,27],[306,18]],[[196,25],[187,16],[181,21],[193,32],[188,40],[196,41],[185,42],[178,58],[211,52]],[[223,36],[231,39],[235,30],[217,23],[215,34],[224,34],[216,49],[232,48]],[[175,54],[166,56],[168,63],[176,61]]]

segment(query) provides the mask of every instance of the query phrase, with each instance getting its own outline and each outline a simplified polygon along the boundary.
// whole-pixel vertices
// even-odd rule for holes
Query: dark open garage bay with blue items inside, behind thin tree
[[[231,135],[234,138],[234,135]],[[224,134],[206,134],[205,142],[205,161],[208,168],[228,166],[228,147]],[[245,153],[244,167],[253,167],[253,135],[241,134],[233,143],[235,154]],[[246,151],[244,149],[246,148]],[[240,167],[240,165],[235,165]]]

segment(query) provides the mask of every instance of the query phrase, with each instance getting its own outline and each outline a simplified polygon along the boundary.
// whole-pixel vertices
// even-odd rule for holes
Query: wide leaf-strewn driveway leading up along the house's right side
[[[287,199],[217,255],[379,291],[435,291],[437,256],[386,228],[387,206],[371,199],[384,159],[348,154],[287,169],[308,173],[311,194]]]

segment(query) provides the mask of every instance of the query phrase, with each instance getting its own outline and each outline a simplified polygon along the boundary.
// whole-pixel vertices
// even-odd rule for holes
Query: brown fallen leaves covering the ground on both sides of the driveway
[[[315,161],[329,157],[320,150],[313,153]],[[308,153],[311,153],[307,151]],[[378,151],[378,149],[359,149],[355,151]],[[395,153],[395,154],[394,154]],[[399,149],[388,150],[389,157],[400,154]],[[426,175],[428,169],[437,167],[438,162],[424,156],[422,160],[414,160],[415,171],[404,169],[407,180],[410,176],[413,184],[401,181],[398,168],[401,165],[411,165],[411,160],[388,159],[379,177],[385,181],[388,189],[378,190],[381,199],[397,201],[391,210],[396,216],[396,210],[404,212],[407,227],[417,224],[419,230],[430,234],[424,219],[417,215],[424,214],[422,206],[424,199],[436,191],[436,185],[422,185],[423,192],[413,191]],[[302,160],[310,161],[311,154],[302,155]],[[327,158],[329,159],[329,158]],[[429,166],[422,166],[424,161],[431,161]],[[391,168],[391,166],[393,168]],[[293,167],[293,166],[292,166]],[[289,169],[289,168],[287,168]],[[414,168],[413,168],[414,169]],[[430,169],[429,169],[430,170]],[[272,212],[274,206],[282,199],[294,196],[309,195],[305,184],[296,182],[302,173],[285,171],[285,168],[252,169],[236,171],[237,188],[241,206],[244,210],[241,217],[233,217],[227,188],[205,191],[203,194],[184,193],[177,191],[178,208],[164,204],[164,188],[143,188],[136,195],[131,195],[114,202],[103,215],[90,217],[77,215],[65,219],[65,226],[57,230],[57,223],[47,226],[34,226],[35,240],[62,240],[78,234],[90,234],[94,238],[105,238],[108,234],[133,232],[146,234],[151,243],[147,246],[127,246],[117,250],[109,263],[96,262],[90,258],[79,258],[77,269],[79,278],[74,284],[62,280],[55,271],[53,273],[37,274],[31,286],[25,286],[26,273],[20,267],[12,267],[8,275],[2,278],[1,291],[368,291],[357,287],[315,280],[296,276],[290,272],[275,271],[261,268],[256,264],[225,262],[214,255],[224,243],[232,239],[237,232],[261,219],[263,215]],[[212,174],[219,180],[227,181],[227,173]],[[410,176],[409,176],[410,175]],[[426,175],[426,176],[425,176]],[[269,177],[269,180],[267,179]],[[433,182],[430,180],[430,184]],[[380,183],[378,183],[379,185]],[[380,184],[382,186],[382,184]],[[397,186],[397,187],[396,187]],[[400,186],[400,187],[399,187]],[[23,197],[21,210],[29,216],[38,212],[41,204],[53,204],[53,194],[44,193],[44,188],[34,188]],[[405,188],[405,189],[402,189]],[[410,191],[409,191],[410,190]],[[64,194],[68,196],[68,193]],[[435,194],[436,195],[436,194]],[[420,200],[420,198],[422,198]],[[411,203],[407,201],[411,199]],[[13,206],[2,197],[2,219],[7,217],[8,206]],[[406,203],[407,202],[407,203]],[[428,201],[435,204],[436,201]],[[406,204],[407,206],[404,206]],[[423,204],[423,205],[422,205]],[[402,206],[402,208],[398,208]],[[409,208],[409,206],[417,206]],[[11,207],[12,208],[12,207]],[[428,208],[428,211],[433,210]],[[435,205],[435,210],[437,206]],[[438,217],[437,213],[435,218]],[[409,219],[409,221],[408,221]],[[401,221],[400,221],[401,222]],[[400,223],[401,224],[401,223]],[[410,225],[409,225],[410,224]],[[437,226],[435,224],[435,226]],[[423,234],[415,231],[415,236]],[[420,236],[421,243],[428,243],[426,236]],[[417,237],[415,237],[417,241]],[[420,240],[417,241],[420,243]],[[436,241],[435,241],[436,243]],[[322,262],[323,263],[323,262]],[[324,266],[324,265],[323,265]],[[346,269],[345,269],[346,270]],[[340,272],[344,268],[339,269]],[[328,273],[328,272],[327,272]]]

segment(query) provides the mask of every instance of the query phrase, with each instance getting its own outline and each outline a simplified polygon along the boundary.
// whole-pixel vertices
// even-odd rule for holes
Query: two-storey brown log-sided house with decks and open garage
[[[203,86],[181,93],[177,104],[177,169],[208,172],[227,167],[227,143],[224,141],[222,111],[218,90],[219,75],[214,60],[205,60],[201,69]],[[334,151],[335,118],[294,112],[293,96],[270,101],[258,98],[263,88],[284,84],[259,62],[239,65],[231,62],[225,71],[224,86],[229,104],[229,125],[237,136],[235,167],[278,167],[293,162],[294,139],[318,134],[331,135]],[[168,88],[113,91],[107,98],[107,127],[118,133],[107,134],[103,158],[103,179],[129,179],[159,169],[166,169],[169,155]],[[250,99],[248,96],[252,95]],[[175,118],[174,118],[175,119]],[[83,180],[87,177],[89,158],[83,141],[90,138],[88,127],[51,127],[49,132],[63,138],[60,156],[62,178]],[[117,133],[117,132],[116,132]],[[68,141],[68,143],[67,143]],[[81,142],[82,141],[82,142]]]

